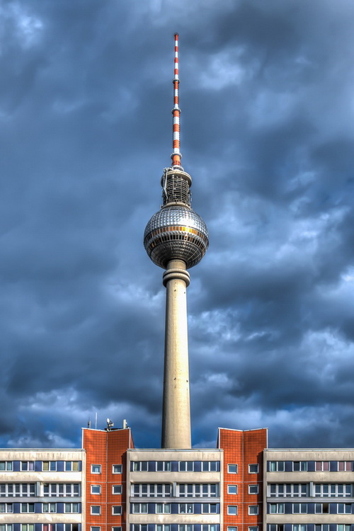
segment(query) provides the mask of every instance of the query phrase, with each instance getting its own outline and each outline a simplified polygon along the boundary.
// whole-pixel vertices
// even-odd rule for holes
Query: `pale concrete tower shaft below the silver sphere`
[[[166,287],[162,448],[191,447],[188,367],[187,287],[189,273],[181,260],[171,260]]]

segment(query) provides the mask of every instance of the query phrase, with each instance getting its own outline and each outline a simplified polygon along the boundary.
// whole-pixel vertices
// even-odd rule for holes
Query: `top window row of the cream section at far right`
[[[353,461],[268,461],[268,472],[353,472]]]

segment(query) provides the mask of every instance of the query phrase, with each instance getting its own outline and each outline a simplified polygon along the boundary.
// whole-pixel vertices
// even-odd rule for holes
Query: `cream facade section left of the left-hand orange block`
[[[0,450],[0,531],[81,531],[84,450]]]

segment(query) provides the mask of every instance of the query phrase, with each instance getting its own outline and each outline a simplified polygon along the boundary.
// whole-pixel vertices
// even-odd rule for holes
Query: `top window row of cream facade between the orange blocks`
[[[219,461],[132,461],[131,472],[219,472]]]

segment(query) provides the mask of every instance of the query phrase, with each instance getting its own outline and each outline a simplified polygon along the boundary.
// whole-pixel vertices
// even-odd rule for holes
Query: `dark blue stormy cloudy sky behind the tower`
[[[181,151],[193,444],[354,445],[352,0],[4,0],[0,445],[158,447],[163,271],[142,235]]]

